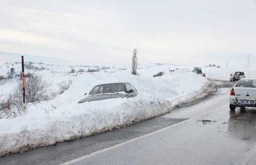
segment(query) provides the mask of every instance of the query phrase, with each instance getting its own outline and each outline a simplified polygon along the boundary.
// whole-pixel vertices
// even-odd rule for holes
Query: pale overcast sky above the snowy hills
[[[256,0],[0,0],[0,51],[75,61],[256,59]]]

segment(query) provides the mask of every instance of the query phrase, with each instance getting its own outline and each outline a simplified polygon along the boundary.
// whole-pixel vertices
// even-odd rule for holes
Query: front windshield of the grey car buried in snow
[[[115,92],[125,92],[124,84],[103,84],[97,85],[92,88],[90,95],[102,94],[102,93],[115,93]]]

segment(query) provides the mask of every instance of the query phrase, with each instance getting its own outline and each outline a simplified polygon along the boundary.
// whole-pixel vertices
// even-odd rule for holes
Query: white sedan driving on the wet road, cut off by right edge
[[[256,107],[256,78],[244,78],[236,82],[229,97],[229,108]]]

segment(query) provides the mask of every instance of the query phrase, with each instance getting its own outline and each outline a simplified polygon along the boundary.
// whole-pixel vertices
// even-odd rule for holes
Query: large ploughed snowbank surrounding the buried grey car
[[[209,85],[204,77],[186,71],[166,72],[155,78],[146,70],[140,74],[83,73],[53,100],[30,104],[29,113],[20,118],[0,120],[0,155],[91,136],[166,114],[205,96]],[[77,104],[96,84],[113,82],[132,83],[138,96]]]

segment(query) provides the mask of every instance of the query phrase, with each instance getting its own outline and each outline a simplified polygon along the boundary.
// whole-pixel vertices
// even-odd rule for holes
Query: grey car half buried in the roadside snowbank
[[[84,95],[86,95],[85,93]],[[111,83],[94,86],[87,97],[78,103],[106,100],[111,98],[130,98],[137,95],[137,90],[130,83]]]

